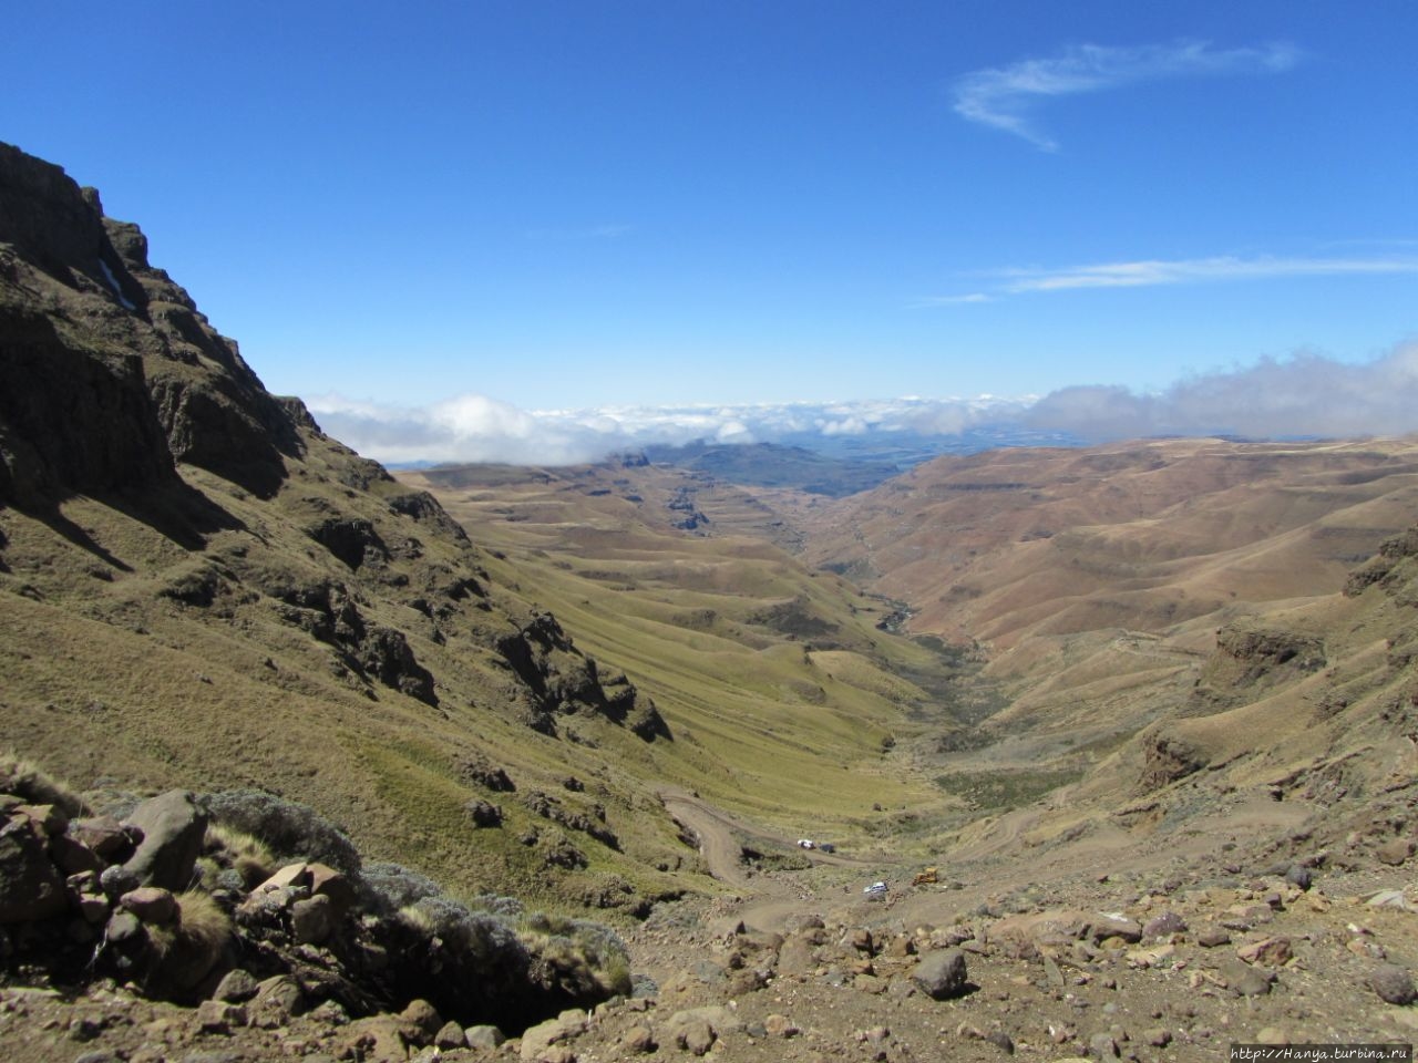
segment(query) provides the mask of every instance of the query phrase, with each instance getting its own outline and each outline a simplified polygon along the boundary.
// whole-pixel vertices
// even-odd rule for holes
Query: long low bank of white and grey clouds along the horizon
[[[835,437],[1055,432],[1081,442],[1150,435],[1344,438],[1418,431],[1418,340],[1367,363],[1297,353],[1139,394],[1076,386],[1042,397],[896,398],[703,407],[519,410],[485,395],[427,407],[309,401],[322,428],[364,456],[413,462],[574,465],[648,445],[805,442]]]

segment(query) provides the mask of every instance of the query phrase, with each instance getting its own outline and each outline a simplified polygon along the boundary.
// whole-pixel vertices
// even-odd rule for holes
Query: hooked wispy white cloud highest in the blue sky
[[[1278,74],[1299,60],[1299,50],[1289,44],[1225,50],[1205,41],[1134,48],[1081,44],[1051,58],[966,74],[954,85],[954,111],[970,122],[1021,136],[1044,152],[1056,152],[1058,142],[1032,122],[1042,101],[1163,78]]]

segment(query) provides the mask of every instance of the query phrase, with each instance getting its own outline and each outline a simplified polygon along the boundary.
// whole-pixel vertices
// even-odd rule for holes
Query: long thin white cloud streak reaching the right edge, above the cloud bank
[[[1236,258],[1139,259],[1134,262],[1099,262],[1061,269],[1010,268],[990,275],[1000,278],[993,292],[942,295],[919,299],[912,306],[951,306],[956,303],[993,302],[1008,295],[1029,292],[1065,292],[1079,288],[1156,288],[1160,285],[1227,283],[1232,281],[1273,281],[1296,276],[1344,276],[1418,274],[1418,257],[1358,258],[1278,258],[1262,255]]]

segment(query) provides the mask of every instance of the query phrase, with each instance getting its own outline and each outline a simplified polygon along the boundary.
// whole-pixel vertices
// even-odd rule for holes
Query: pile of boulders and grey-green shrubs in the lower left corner
[[[353,849],[340,857],[335,848],[345,870],[296,857],[252,889],[213,882],[216,857],[230,853],[221,835],[203,845],[208,806],[286,843],[329,849],[336,835],[347,846],[309,809],[269,795],[170,791],[109,831],[0,792],[0,969],[79,986],[116,977],[153,998],[204,1001],[207,1032],[278,1025],[329,1002],[343,1018],[423,1013],[425,1040],[440,1013],[518,1032],[628,989],[608,969],[625,962],[624,945],[604,927],[581,924],[574,941],[543,952],[506,917],[472,911],[428,880],[400,883],[407,873],[394,865],[367,879]],[[301,829],[281,831],[292,822]],[[115,836],[142,838],[126,863],[109,862],[130,848],[115,848]],[[207,866],[194,873],[204,848]],[[403,903],[390,882],[415,899]]]

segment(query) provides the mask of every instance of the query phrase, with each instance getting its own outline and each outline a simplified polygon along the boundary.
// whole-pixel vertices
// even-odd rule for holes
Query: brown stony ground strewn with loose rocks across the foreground
[[[362,999],[339,923],[311,917],[333,901],[319,900],[329,887],[322,894],[323,872],[306,862],[241,894],[237,965],[193,977],[177,994],[186,1005],[155,1001],[155,968],[121,969],[109,952],[160,937],[173,916],[157,911],[167,892],[132,887],[123,865],[99,873],[94,892],[79,873],[77,901],[69,879],[65,934],[71,945],[101,941],[81,977],[43,975],[38,924],[9,924],[0,1042],[17,1063],[1214,1060],[1231,1043],[1409,1043],[1411,791],[1397,787],[1361,819],[1215,852],[1140,843],[1151,857],[1140,870],[1075,866],[1020,882],[960,865],[959,877],[899,886],[885,903],[815,880],[820,867],[773,872],[742,896],[659,906],[630,934],[632,989],[530,1023],[510,1009],[474,1020],[459,992],[476,995],[481,982],[448,992],[452,967],[447,981],[423,982],[441,1008],[407,992],[397,1008],[390,992]],[[11,804],[3,836],[37,836],[45,823],[50,812]],[[51,829],[51,850],[88,829]],[[115,897],[105,877],[130,889]],[[798,901],[756,906],[763,896]],[[366,913],[362,933],[377,927]],[[31,962],[18,962],[27,943]],[[427,950],[440,944],[421,940],[420,969],[437,974]],[[452,950],[444,961],[457,964]]]

